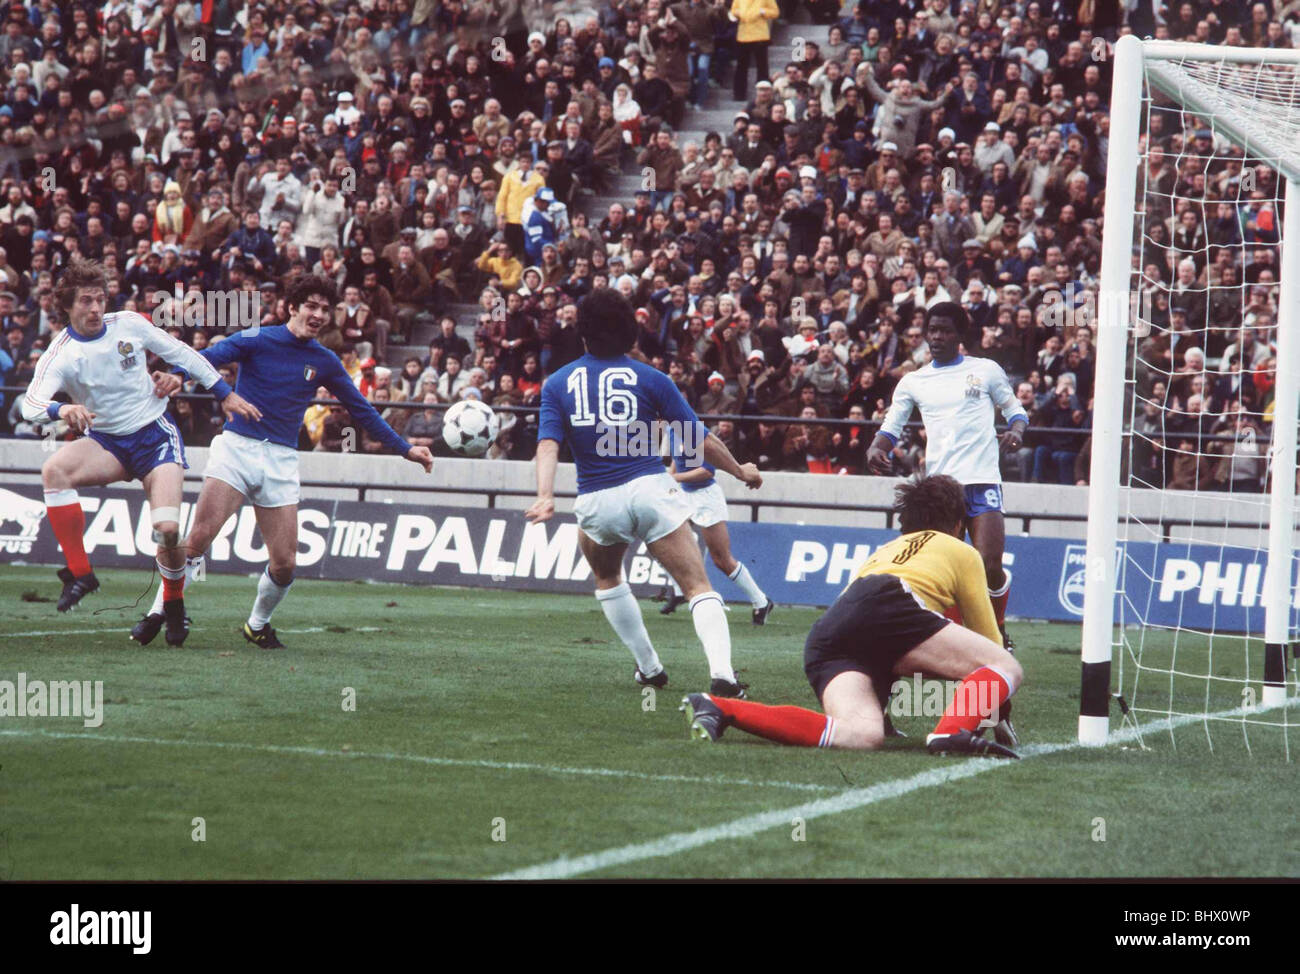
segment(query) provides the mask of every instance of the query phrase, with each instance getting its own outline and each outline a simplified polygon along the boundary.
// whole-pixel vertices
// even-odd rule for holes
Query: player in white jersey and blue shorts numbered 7
[[[77,488],[139,480],[150,501],[159,572],[174,590],[166,607],[166,640],[178,646],[185,641],[179,521],[187,464],[181,433],[166,416],[166,376],[150,376],[146,352],[191,372],[221,399],[228,415],[256,420],[261,414],[231,391],[202,355],[143,315],[105,315],[107,295],[108,274],[99,264],[74,259],[62,272],[55,296],[68,326],[40,356],[22,402],[29,423],[64,420],[83,434],[40,468],[46,511],[68,563],[58,570],[64,583],[58,611],[66,612],[99,588],[82,544],[86,518]],[[55,402],[60,391],[74,402]]]

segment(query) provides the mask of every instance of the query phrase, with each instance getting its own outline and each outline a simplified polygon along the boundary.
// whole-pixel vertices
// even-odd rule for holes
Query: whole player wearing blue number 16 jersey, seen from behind
[[[742,697],[731,662],[731,632],[722,597],[708,576],[690,529],[693,505],[663,468],[659,455],[667,427],[681,440],[688,466],[701,460],[742,480],[763,482],[758,467],[741,464],[696,416],[672,380],[628,358],[637,337],[636,316],[623,295],[593,291],[578,304],[577,332],[586,355],[555,372],[542,386],[537,429],[537,501],[525,516],[540,523],[555,514],[555,467],[567,442],[577,467],[578,544],[595,576],[595,598],[604,618],[637,661],[634,679],[666,687],[659,655],[650,644],[641,606],[623,580],[628,545],[644,541],[690,601],[696,635],[712,678],[710,693]]]

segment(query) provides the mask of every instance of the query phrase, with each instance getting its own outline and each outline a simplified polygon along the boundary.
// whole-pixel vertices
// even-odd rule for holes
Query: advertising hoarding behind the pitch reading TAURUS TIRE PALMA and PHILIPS
[[[87,492],[82,506],[86,550],[98,567],[150,567],[151,525],[139,490]],[[191,516],[192,498],[182,507],[182,524]],[[731,534],[734,555],[772,599],[807,606],[829,605],[854,568],[896,536],[881,528],[749,521],[733,523]],[[252,573],[265,558],[252,507],[246,506],[212,545],[207,570]],[[62,563],[38,486],[0,488],[4,563]],[[1121,559],[1123,594],[1117,596],[1117,620],[1262,632],[1264,563],[1262,551],[1239,547],[1131,542]],[[1009,615],[1082,619],[1087,573],[1082,541],[1013,536],[1006,540],[1005,566],[1013,576]],[[708,570],[724,598],[741,599],[711,563]],[[644,546],[629,550],[625,572],[642,597],[666,580]],[[528,524],[521,511],[358,501],[303,501],[296,573],[541,592],[590,593],[593,588],[569,515]]]

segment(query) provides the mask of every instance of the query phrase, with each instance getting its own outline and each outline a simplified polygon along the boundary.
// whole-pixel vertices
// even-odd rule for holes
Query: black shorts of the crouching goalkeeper
[[[864,575],[814,623],[803,644],[803,672],[818,700],[840,674],[866,674],[884,706],[894,663],[949,622],[922,605],[902,579]]]

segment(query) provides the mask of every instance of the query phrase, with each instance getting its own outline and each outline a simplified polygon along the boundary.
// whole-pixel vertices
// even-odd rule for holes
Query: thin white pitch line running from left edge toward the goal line
[[[724,784],[750,788],[786,788],[803,792],[833,792],[833,785],[809,784],[803,782],[759,782],[749,778],[706,778],[697,775],[656,775],[644,771],[627,771],[614,767],[558,767],[554,765],[530,765],[517,761],[485,761],[476,758],[439,758],[424,754],[394,754],[365,750],[329,750],[326,748],[300,748],[282,744],[240,744],[237,741],[187,741],[166,737],[125,737],[107,733],[73,733],[65,731],[0,731],[0,737],[48,737],[52,740],[86,740],[110,744],[148,744],[181,748],[214,748],[220,750],[248,750],[265,754],[296,754],[316,758],[370,758],[374,761],[408,761],[416,765],[437,767],[474,767],[488,771],[536,771],[551,775],[575,775],[580,778],[627,778],[641,782],[672,782],[677,784]]]

